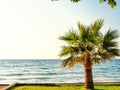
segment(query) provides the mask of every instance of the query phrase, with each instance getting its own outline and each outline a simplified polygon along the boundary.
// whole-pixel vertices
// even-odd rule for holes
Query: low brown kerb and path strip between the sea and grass
[[[7,90],[14,86],[24,85],[41,85],[41,86],[61,86],[61,85],[73,85],[82,86],[84,83],[12,83],[12,84],[0,84],[0,90]],[[120,86],[120,82],[94,82],[95,86]]]

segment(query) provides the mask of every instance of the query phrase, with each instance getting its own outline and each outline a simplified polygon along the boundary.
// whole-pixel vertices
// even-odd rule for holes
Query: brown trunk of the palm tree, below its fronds
[[[85,88],[94,89],[93,77],[92,77],[92,64],[89,55],[84,58],[84,78]]]

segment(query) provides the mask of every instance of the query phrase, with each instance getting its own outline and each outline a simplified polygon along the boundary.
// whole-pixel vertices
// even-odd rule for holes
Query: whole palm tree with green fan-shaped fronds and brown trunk
[[[69,30],[59,39],[67,42],[62,46],[59,56],[68,56],[62,61],[62,67],[73,68],[75,64],[84,65],[85,88],[94,89],[92,65],[111,60],[119,56],[117,49],[117,30],[109,29],[106,34],[100,32],[104,20],[98,19],[89,26],[78,22],[78,31]]]

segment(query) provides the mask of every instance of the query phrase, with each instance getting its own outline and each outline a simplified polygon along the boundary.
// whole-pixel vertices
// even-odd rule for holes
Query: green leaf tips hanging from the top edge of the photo
[[[59,1],[59,0],[52,0],[52,1]],[[70,1],[73,2],[73,3],[77,3],[81,0],[70,0]],[[99,0],[99,2],[100,3],[107,2],[111,6],[111,8],[114,8],[117,5],[115,0]]]

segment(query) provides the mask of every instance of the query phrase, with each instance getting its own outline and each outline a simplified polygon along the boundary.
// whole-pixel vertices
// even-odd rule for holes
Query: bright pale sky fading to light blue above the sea
[[[98,0],[0,0],[0,59],[59,58],[64,44],[58,37],[77,29],[78,21],[89,25],[104,19],[103,32],[112,28],[120,33],[119,16],[120,1],[112,9]]]

